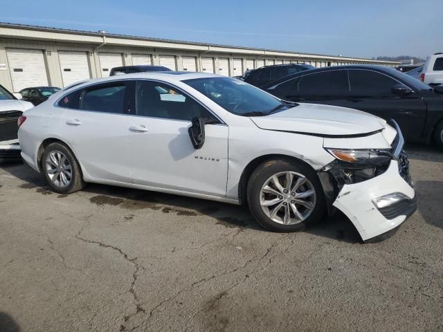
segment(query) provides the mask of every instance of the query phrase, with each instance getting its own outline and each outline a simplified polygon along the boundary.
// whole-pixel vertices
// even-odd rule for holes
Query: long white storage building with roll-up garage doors
[[[377,64],[354,57],[334,57],[195,42],[180,42],[103,31],[67,30],[21,24],[0,24],[0,84],[18,92],[30,86],[67,86],[78,80],[106,77],[111,68],[155,64],[173,71],[202,71],[226,76],[270,64],[313,66]]]

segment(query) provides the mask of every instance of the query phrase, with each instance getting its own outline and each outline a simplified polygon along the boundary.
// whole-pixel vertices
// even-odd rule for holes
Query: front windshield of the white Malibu
[[[289,108],[255,86],[229,77],[204,77],[183,82],[239,116],[266,116]]]

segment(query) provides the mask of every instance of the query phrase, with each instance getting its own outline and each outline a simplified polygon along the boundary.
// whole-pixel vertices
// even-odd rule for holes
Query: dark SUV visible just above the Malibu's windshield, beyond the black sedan
[[[263,66],[254,69],[247,76],[245,75],[243,80],[248,84],[260,88],[261,86],[279,80],[282,77],[313,68],[316,67],[311,66],[310,64],[273,64],[271,66]]]

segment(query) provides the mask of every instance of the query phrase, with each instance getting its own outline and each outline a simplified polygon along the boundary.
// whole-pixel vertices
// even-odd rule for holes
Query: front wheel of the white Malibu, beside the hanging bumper
[[[288,179],[290,186],[287,185]],[[298,183],[302,184],[297,187]],[[288,190],[289,187],[292,190]],[[259,165],[249,178],[246,195],[251,214],[260,225],[273,232],[305,230],[322,218],[326,208],[316,172],[309,165],[294,160],[268,160]]]

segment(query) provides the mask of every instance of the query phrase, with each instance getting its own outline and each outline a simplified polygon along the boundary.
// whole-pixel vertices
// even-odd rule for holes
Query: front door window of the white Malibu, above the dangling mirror
[[[218,122],[212,113],[188,95],[154,81],[137,81],[136,115],[183,121],[203,118],[206,123]]]

